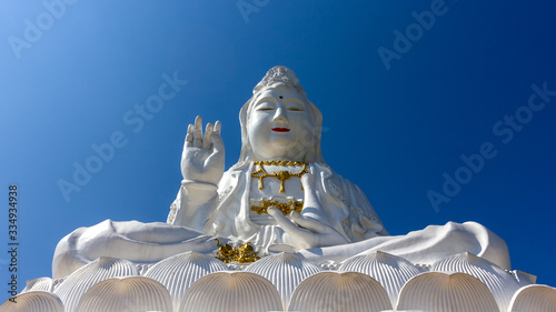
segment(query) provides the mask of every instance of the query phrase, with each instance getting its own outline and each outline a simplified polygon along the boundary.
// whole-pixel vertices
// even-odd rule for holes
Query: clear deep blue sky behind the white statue
[[[391,234],[477,221],[513,269],[556,285],[552,1],[60,1],[0,2],[0,243],[16,183],[19,290],[51,275],[79,227],[166,221],[197,114],[222,122],[232,165],[239,109],[277,64],[322,111],[327,163]],[[67,197],[60,180],[76,184]]]

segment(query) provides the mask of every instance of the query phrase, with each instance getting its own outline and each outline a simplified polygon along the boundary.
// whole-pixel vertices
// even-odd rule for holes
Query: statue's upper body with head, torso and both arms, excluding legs
[[[225,173],[220,123],[207,124],[201,138],[197,118],[186,137],[185,180],[168,223],[262,249],[388,234],[361,190],[324,162],[321,121],[295,73],[272,68],[240,111],[241,154]]]

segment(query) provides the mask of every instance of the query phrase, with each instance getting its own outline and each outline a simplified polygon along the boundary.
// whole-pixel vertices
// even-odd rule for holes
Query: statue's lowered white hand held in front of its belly
[[[297,211],[292,211],[291,221],[276,207],[268,208],[268,213],[286,233],[295,240],[297,250],[346,244],[348,241],[338,231],[309,217],[304,217]]]

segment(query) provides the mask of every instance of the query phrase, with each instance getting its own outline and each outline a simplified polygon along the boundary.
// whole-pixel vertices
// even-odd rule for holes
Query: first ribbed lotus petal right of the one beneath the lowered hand
[[[396,306],[399,291],[404,284],[421,273],[404,258],[380,251],[351,256],[344,261],[338,271],[359,272],[371,276],[386,290],[393,306]]]

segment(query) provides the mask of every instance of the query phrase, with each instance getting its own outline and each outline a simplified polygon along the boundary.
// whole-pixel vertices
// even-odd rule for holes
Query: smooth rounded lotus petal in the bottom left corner
[[[63,312],[63,304],[53,293],[28,291],[18,294],[16,303],[7,300],[0,305],[0,312]]]

